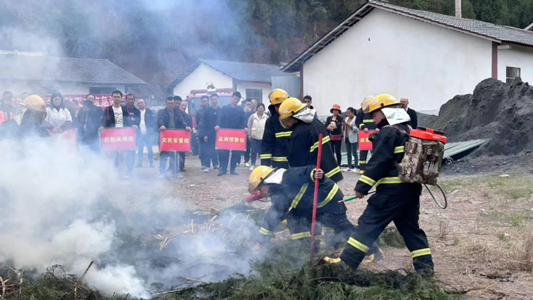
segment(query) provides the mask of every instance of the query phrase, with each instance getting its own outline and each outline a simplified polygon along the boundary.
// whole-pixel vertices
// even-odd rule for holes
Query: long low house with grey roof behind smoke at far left
[[[0,93],[46,95],[59,91],[64,96],[123,93],[146,82],[107,59],[66,58],[39,53],[0,53]]]

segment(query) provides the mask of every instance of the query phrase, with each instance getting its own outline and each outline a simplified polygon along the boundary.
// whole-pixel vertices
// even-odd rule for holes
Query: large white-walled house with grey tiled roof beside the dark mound
[[[319,115],[379,93],[435,112],[486,78],[533,81],[533,31],[369,0],[282,70]]]

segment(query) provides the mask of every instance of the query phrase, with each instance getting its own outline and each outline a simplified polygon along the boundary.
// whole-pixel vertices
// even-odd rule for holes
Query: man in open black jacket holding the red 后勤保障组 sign
[[[113,104],[111,106],[106,107],[106,109],[104,109],[103,111],[102,127],[108,127],[108,128],[133,127],[135,129],[138,128],[137,125],[132,124],[132,120],[129,117],[130,113],[128,112],[126,107],[123,107],[120,105],[120,101],[122,100],[122,92],[118,90],[113,91],[111,93],[111,97],[113,99]],[[119,161],[120,161],[120,152],[117,151],[117,154],[115,156],[115,167],[118,167]],[[127,151],[126,152],[127,173],[126,173],[126,176],[124,176],[124,179],[130,179],[132,172],[133,172],[134,163],[135,163],[135,151]]]

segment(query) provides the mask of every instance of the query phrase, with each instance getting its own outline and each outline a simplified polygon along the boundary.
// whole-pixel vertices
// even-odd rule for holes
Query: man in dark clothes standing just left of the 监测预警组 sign
[[[204,119],[199,125],[198,136],[206,143],[205,151],[205,169],[204,173],[209,173],[211,161],[213,161],[213,169],[219,169],[219,153],[215,150],[216,144],[216,122],[219,119],[222,108],[219,107],[219,96],[211,94],[211,107],[204,112]]]

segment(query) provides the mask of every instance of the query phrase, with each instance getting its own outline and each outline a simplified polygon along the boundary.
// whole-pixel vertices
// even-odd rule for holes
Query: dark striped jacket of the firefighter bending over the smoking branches
[[[287,215],[289,208],[296,209],[298,215],[312,216],[314,193],[314,168],[304,166],[289,168],[283,173],[281,184],[269,184],[269,196],[272,206],[266,212],[258,241],[270,240],[274,229]],[[318,185],[317,214],[327,212],[338,205],[344,194],[338,185],[328,177],[324,177]]]

